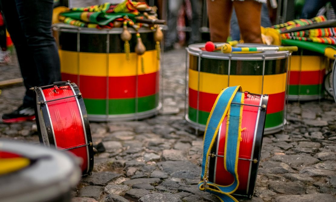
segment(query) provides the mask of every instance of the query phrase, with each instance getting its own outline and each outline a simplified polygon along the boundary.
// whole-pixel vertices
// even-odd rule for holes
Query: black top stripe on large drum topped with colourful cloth
[[[109,53],[125,53],[124,41],[121,40],[120,34],[110,34],[110,50]],[[154,32],[140,33],[143,44],[146,50],[155,49]],[[86,53],[106,53],[107,47],[107,33],[101,32],[101,34],[79,34],[80,44],[79,52]],[[135,52],[136,34],[132,34],[132,38],[129,41],[131,53]],[[77,51],[77,33],[71,32],[59,32],[59,49]]]

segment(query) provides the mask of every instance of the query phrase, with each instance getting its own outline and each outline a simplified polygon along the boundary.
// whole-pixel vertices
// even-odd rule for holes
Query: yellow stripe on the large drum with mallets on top
[[[200,72],[200,91],[218,94],[227,87],[228,75]],[[286,73],[264,76],[263,92],[262,75],[230,75],[230,86],[240,85],[243,91],[258,94],[276,94],[285,92]],[[198,71],[189,69],[189,87],[197,91]]]

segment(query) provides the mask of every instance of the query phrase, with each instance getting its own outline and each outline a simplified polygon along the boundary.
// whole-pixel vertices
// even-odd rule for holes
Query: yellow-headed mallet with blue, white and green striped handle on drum
[[[221,48],[222,53],[232,52],[255,52],[255,51],[283,51],[290,50],[292,52],[297,51],[297,46],[265,46],[265,47],[232,47],[230,44],[224,44]]]

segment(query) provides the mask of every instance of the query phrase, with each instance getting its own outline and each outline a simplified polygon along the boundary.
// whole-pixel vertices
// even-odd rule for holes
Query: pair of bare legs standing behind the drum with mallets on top
[[[260,31],[262,3],[266,3],[266,0],[207,0],[211,41],[226,42],[234,7],[242,40],[245,43],[262,43]]]

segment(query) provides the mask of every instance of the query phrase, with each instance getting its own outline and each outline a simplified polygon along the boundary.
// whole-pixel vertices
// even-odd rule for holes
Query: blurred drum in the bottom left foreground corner
[[[71,188],[80,178],[78,161],[67,153],[0,141],[1,201],[71,202]]]

